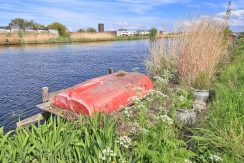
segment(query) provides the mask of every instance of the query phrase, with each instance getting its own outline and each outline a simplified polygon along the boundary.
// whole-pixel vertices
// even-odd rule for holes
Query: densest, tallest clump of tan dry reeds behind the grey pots
[[[202,72],[209,80],[221,58],[227,55],[224,43],[226,23],[214,18],[193,20],[181,28],[185,37],[179,41],[177,70],[182,80],[192,84]]]

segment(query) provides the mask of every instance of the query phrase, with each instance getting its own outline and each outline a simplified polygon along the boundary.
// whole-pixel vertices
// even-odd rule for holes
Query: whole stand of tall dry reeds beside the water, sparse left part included
[[[211,17],[178,23],[177,38],[150,43],[148,72],[160,75],[169,69],[190,85],[202,72],[210,80],[221,58],[227,55],[226,26],[225,21]]]

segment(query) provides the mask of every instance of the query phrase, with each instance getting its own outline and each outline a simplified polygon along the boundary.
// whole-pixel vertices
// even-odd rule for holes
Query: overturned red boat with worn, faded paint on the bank
[[[79,114],[111,113],[144,97],[153,89],[152,81],[136,72],[113,73],[78,84],[54,96],[52,104]]]

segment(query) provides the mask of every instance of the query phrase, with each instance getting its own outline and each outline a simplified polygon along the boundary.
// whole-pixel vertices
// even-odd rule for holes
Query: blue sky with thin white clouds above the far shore
[[[127,28],[172,31],[177,21],[222,17],[228,0],[0,0],[0,26],[24,18],[48,25],[58,21],[69,30],[104,23],[105,30]],[[244,31],[244,0],[232,1],[230,27]]]

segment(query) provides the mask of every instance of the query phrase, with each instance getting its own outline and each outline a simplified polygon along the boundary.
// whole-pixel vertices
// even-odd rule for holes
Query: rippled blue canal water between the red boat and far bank
[[[64,89],[110,67],[145,73],[147,47],[146,40],[0,47],[0,127],[14,129],[19,119],[39,113],[43,86]]]

